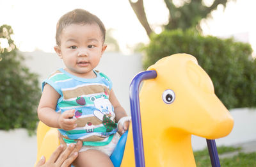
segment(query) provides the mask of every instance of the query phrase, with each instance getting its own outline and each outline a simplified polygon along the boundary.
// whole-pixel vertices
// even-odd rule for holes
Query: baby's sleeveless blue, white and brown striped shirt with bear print
[[[57,113],[76,110],[76,129],[59,129],[66,143],[76,143],[81,139],[83,145],[107,145],[117,131],[114,108],[109,102],[112,82],[105,74],[93,72],[97,77],[84,79],[60,68],[42,83],[42,89],[47,83],[60,94]]]

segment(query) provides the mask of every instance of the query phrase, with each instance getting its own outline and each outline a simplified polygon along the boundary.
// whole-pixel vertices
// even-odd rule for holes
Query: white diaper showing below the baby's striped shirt
[[[86,150],[100,150],[101,152],[104,152],[109,157],[113,153],[116,144],[118,143],[118,140],[120,139],[120,135],[118,132],[116,132],[113,136],[113,139],[110,141],[108,145],[103,146],[90,146],[90,145],[84,145],[79,152],[84,152]]]

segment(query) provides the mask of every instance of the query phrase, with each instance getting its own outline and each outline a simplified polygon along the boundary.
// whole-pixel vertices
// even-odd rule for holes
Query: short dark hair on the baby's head
[[[105,41],[106,29],[101,20],[86,10],[76,9],[66,13],[58,20],[55,36],[57,45],[60,45],[60,37],[63,29],[70,24],[98,24],[102,32],[102,41]]]

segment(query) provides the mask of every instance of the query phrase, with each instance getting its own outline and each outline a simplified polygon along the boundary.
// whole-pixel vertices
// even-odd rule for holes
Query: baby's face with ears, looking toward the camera
[[[106,45],[97,24],[70,24],[61,33],[60,58],[67,71],[78,77],[95,77],[97,67]]]

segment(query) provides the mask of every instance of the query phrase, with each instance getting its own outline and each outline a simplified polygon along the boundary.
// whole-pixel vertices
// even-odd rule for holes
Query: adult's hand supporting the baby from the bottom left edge
[[[46,163],[45,157],[42,156],[35,167],[68,167],[76,159],[82,145],[81,141],[77,141],[76,145],[71,143],[67,148],[65,145],[60,145]]]

